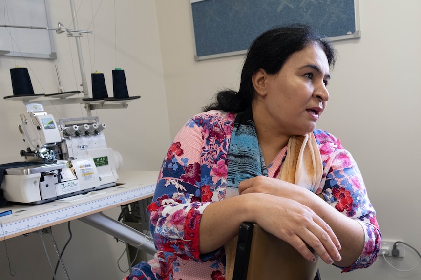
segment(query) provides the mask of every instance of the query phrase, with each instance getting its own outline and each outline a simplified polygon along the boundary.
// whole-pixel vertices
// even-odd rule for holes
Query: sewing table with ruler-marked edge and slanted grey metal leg
[[[153,196],[158,172],[122,171],[118,175],[115,187],[41,205],[10,205],[0,208],[0,212],[12,210],[11,215],[0,217],[0,241],[79,219],[153,253],[156,250],[148,236],[105,216],[102,211]]]

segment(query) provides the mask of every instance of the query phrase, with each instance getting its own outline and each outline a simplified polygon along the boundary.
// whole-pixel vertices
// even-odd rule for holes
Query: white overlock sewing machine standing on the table
[[[21,115],[25,161],[6,169],[1,188],[15,203],[41,204],[116,185],[121,155],[106,146],[98,117],[60,119],[45,112]]]

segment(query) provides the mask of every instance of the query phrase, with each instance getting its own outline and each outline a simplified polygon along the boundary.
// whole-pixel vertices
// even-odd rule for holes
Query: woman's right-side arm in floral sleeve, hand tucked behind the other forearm
[[[332,144],[324,142],[326,146]],[[342,245],[343,258],[334,264],[351,271],[368,267],[377,259],[381,233],[357,164],[338,140],[333,144],[322,147],[327,171],[319,191],[324,200],[303,187],[267,177],[245,180],[239,184],[239,191],[272,194],[310,207],[332,227]]]

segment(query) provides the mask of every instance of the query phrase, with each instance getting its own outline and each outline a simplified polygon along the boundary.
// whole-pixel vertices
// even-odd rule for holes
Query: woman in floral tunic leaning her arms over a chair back
[[[345,272],[376,260],[381,234],[357,164],[316,129],[334,62],[306,26],[254,40],[238,93],[218,93],[168,150],[147,209],[158,253],[126,279],[225,279],[224,245],[244,221]]]

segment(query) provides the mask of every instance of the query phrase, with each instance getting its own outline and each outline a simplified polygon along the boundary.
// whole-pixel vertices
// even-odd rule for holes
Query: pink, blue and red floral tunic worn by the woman
[[[157,279],[225,279],[224,248],[201,255],[199,227],[206,206],[225,198],[233,124],[230,112],[200,113],[187,122],[168,149],[153,202],[147,208],[158,248],[148,263]],[[314,134],[323,162],[323,179],[316,194],[322,193],[332,207],[358,221],[365,232],[360,257],[342,269],[368,267],[379,255],[381,234],[360,171],[339,139],[322,130]],[[268,166],[269,177],[277,177],[286,150]]]

